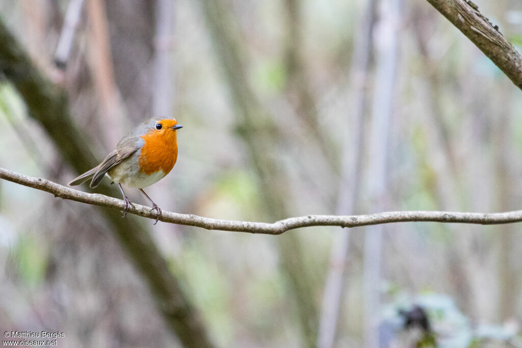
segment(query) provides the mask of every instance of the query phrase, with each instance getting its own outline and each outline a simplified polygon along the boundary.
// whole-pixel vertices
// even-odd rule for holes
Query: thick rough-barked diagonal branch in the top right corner
[[[522,89],[522,56],[471,1],[428,0]]]

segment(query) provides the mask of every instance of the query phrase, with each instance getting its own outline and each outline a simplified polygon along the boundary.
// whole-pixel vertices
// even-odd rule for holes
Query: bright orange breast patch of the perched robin
[[[152,130],[141,138],[145,142],[139,155],[139,171],[152,174],[161,169],[165,175],[169,174],[177,160],[176,131]]]

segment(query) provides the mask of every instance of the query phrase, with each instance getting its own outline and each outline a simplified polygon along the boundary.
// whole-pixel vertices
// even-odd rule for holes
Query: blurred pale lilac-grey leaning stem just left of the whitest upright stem
[[[366,3],[364,15],[360,19],[353,60],[350,68],[350,91],[353,109],[347,118],[350,127],[345,137],[341,159],[341,177],[337,201],[337,214],[347,215],[354,213],[355,202],[359,196],[362,172],[362,151],[364,126],[364,104],[367,100],[366,79],[372,51],[372,27],[375,22],[375,0]],[[330,253],[330,263],[323,293],[323,304],[319,321],[317,346],[327,348],[334,345],[335,333],[339,318],[339,309],[342,305],[341,294],[346,284],[346,260],[348,255],[350,229],[336,231]]]

